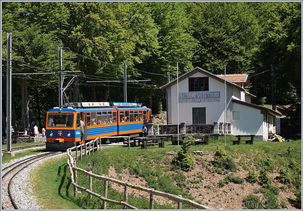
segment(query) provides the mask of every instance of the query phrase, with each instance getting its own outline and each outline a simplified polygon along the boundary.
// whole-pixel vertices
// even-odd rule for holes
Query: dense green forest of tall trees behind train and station
[[[301,2],[2,2],[2,132],[6,126],[7,32],[12,33],[12,73],[79,70],[66,89],[69,102],[127,102],[154,113],[166,108],[159,90],[200,67],[214,74],[247,73],[257,96],[271,104],[271,64],[276,101],[301,130]],[[266,72],[265,72],[266,71]],[[264,72],[264,73],[262,73]],[[261,73],[261,74],[258,74]],[[258,74],[258,75],[256,75]],[[65,73],[63,87],[73,78]],[[88,81],[108,81],[90,83]],[[12,76],[12,125],[40,129],[58,106],[58,74]]]

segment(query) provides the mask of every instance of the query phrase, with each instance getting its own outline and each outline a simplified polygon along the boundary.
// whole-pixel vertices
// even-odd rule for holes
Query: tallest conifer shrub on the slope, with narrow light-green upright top
[[[191,135],[186,135],[184,138],[181,150],[178,151],[176,157],[172,159],[172,164],[175,164],[177,168],[184,171],[189,171],[193,168],[194,160],[189,154],[187,154],[187,152],[194,141],[195,138],[193,138]]]

